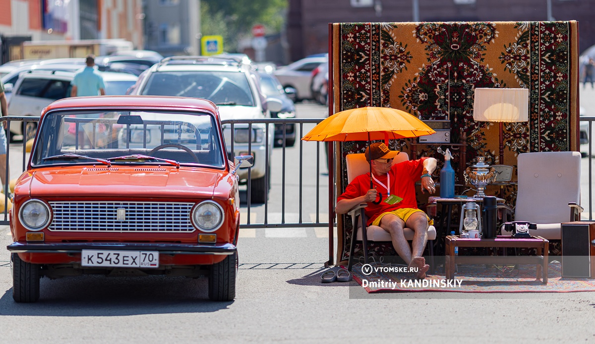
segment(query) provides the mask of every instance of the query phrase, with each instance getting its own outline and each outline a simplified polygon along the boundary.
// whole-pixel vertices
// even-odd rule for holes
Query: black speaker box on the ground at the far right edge
[[[562,224],[562,277],[595,278],[595,222]]]

